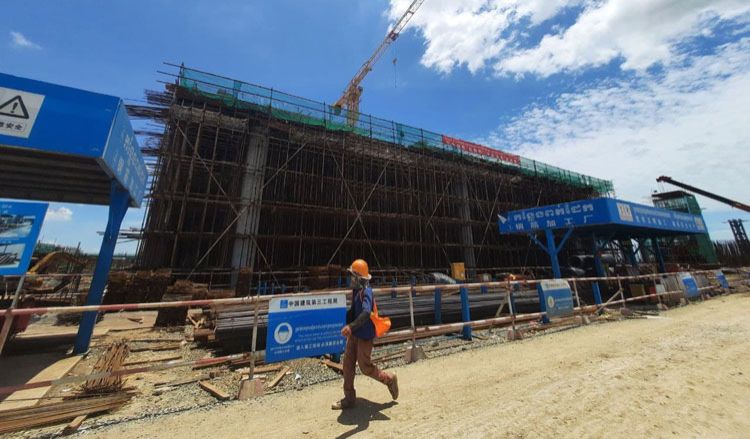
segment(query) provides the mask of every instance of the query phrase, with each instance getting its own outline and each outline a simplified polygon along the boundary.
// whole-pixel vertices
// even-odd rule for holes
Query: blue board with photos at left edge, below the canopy
[[[26,273],[47,206],[0,200],[0,276]]]

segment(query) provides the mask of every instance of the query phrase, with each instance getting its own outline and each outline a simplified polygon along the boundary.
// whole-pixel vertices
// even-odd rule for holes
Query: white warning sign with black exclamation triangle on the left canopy
[[[44,95],[0,87],[0,135],[28,139]]]

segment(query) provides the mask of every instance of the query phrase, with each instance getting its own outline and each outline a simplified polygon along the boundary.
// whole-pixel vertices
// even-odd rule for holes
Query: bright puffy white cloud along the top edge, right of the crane
[[[399,17],[410,0],[390,0]],[[558,26],[529,45],[527,31],[570,7],[582,12],[570,27]],[[548,76],[622,59],[642,71],[679,58],[685,38],[712,31],[719,20],[750,21],[747,0],[431,0],[410,27],[425,39],[422,64],[449,73],[491,66],[497,74]]]

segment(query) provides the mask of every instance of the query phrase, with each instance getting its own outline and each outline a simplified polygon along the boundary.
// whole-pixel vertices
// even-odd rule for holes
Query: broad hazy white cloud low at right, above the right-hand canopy
[[[746,200],[750,39],[664,75],[604,80],[559,95],[551,105],[528,108],[484,140],[612,179],[618,196],[633,201],[645,201],[660,175]],[[700,202],[726,210],[705,198]]]

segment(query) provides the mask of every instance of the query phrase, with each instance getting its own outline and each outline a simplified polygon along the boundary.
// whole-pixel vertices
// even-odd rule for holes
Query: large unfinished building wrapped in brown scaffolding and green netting
[[[235,286],[252,271],[253,283],[320,287],[311,279],[338,274],[321,267],[358,257],[376,282],[453,263],[469,276],[548,265],[527,238],[498,234],[498,214],[612,192],[609,181],[184,66],[165,84],[129,109],[164,128],[146,142],[154,174],[138,265],[178,277]]]

